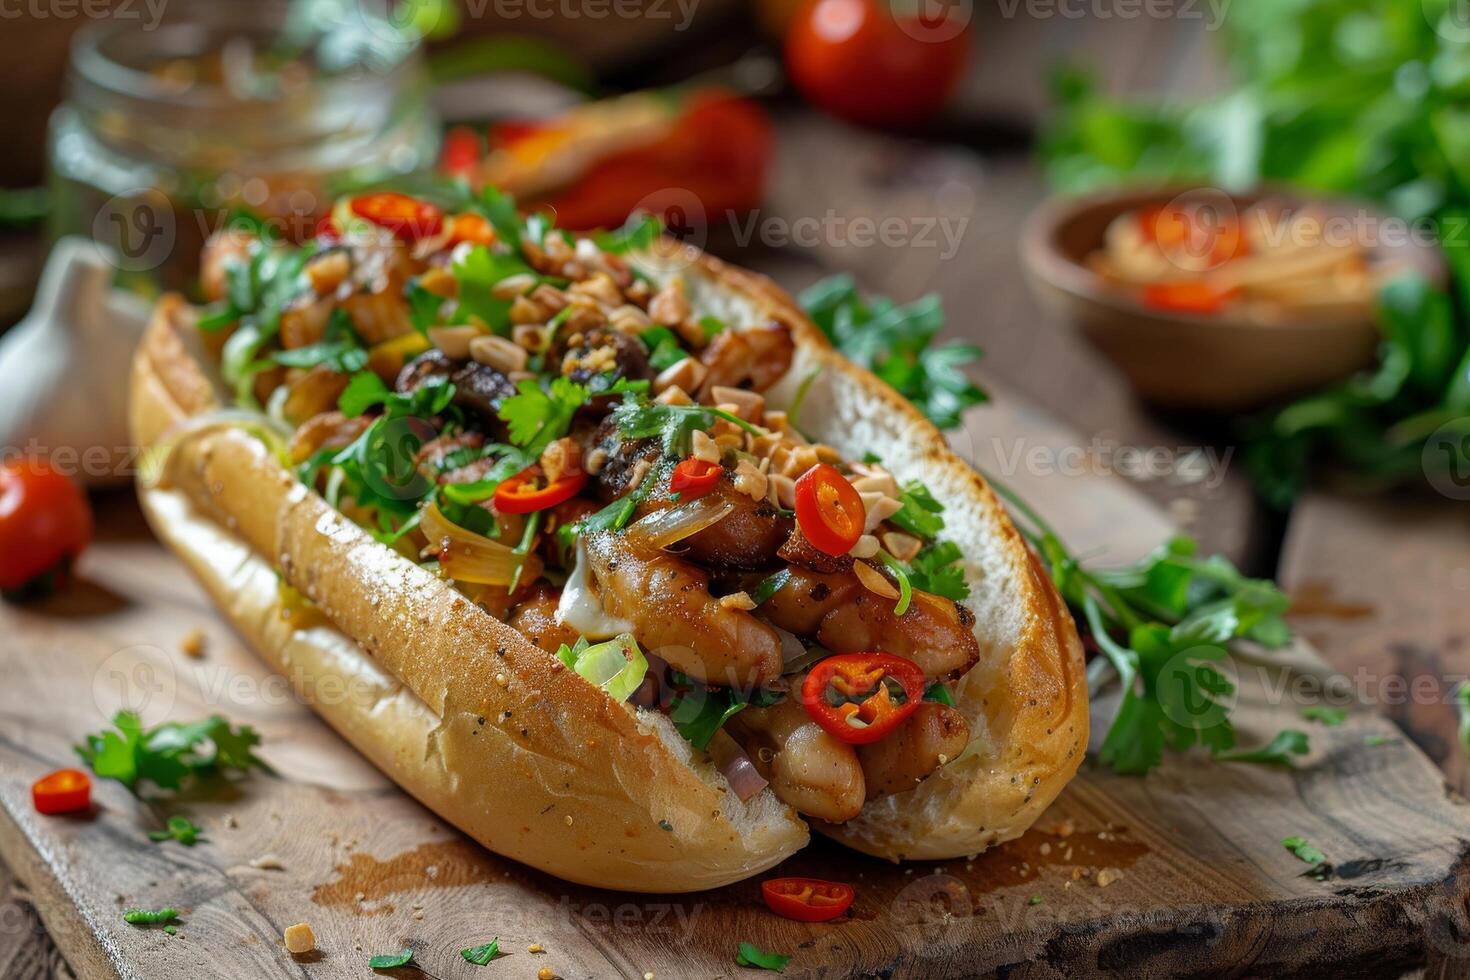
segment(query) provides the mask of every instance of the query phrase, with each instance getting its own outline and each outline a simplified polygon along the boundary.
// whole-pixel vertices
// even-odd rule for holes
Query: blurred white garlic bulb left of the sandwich
[[[63,238],[31,311],[0,336],[0,453],[47,455],[88,486],[129,480],[137,457],[128,375],[147,309],[112,288],[113,269],[97,244]]]

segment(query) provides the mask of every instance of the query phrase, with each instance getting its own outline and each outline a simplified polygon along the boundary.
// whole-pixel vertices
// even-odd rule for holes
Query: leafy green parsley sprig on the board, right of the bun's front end
[[[1098,751],[1104,765],[1142,774],[1163,761],[1166,748],[1195,745],[1233,761],[1280,763],[1305,751],[1297,732],[1267,751],[1230,755],[1235,727],[1225,699],[1235,688],[1220,664],[1236,641],[1267,648],[1291,642],[1282,619],[1288,599],[1272,582],[1241,574],[1220,555],[1197,557],[1195,542],[1182,536],[1136,564],[1085,569],[1035,508],[991,485],[1102,654],[1088,670],[1094,692],[1110,680],[1108,669],[1120,682],[1123,699]]]

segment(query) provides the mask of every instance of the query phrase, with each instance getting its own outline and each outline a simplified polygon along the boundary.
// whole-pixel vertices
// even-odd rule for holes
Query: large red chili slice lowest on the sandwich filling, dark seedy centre
[[[801,707],[848,745],[876,742],[923,699],[923,670],[892,654],[839,654],[817,663],[801,683]]]

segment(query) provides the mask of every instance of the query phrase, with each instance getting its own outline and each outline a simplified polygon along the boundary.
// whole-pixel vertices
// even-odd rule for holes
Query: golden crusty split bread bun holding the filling
[[[786,323],[797,357],[767,404],[789,404],[820,369],[801,425],[850,457],[878,453],[901,480],[923,479],[947,505],[944,536],[964,552],[982,651],[956,691],[970,748],[916,789],[819,830],[894,860],[975,854],[1025,832],[1082,760],[1086,688],[1072,620],[995,495],[769,281],[686,247],[635,264],[657,281],[682,278],[698,314]],[[165,297],[134,361],[134,435],[172,447],[157,478],[140,485],[144,511],[348,742],[487,848],[573,882],[707,889],[806,843],[804,823],[769,789],[741,804],[663,716],[613,702],[375,541],[260,439],[232,425],[191,426],[220,404],[193,316]],[[287,616],[281,583],[326,623]],[[319,696],[328,685],[354,693]]]

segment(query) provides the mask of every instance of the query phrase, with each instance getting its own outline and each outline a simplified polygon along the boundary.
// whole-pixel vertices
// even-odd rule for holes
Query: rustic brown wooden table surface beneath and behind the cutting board
[[[1063,56],[1092,60],[1122,90],[1207,90],[1217,79],[1207,44],[1200,22],[1038,22],[991,13],[966,109],[1033,120],[1044,104],[1039,66]],[[847,270],[864,288],[900,300],[938,291],[951,334],[988,351],[982,379],[1066,422],[1094,464],[1113,464],[1120,447],[1164,450],[1179,466],[1138,480],[1139,489],[1205,548],[1277,576],[1297,599],[1294,623],[1304,636],[1424,749],[1451,786],[1466,789],[1470,773],[1446,696],[1470,670],[1470,522],[1463,502],[1320,491],[1289,519],[1264,511],[1227,445],[1141,408],[1105,361],[1041,314],[1016,248],[1025,215],[1044,195],[1025,156],[895,141],[806,113],[782,118],[779,153],[770,204],[753,241],[738,248],[742,263],[789,288]],[[842,219],[858,216],[907,219],[908,239],[854,244]],[[822,231],[810,244],[782,244],[797,219],[816,220]],[[939,219],[948,219],[953,238]],[[748,231],[717,231],[713,244],[731,251]],[[1005,457],[1016,447],[978,448]],[[1222,466],[1202,473],[1185,466],[1201,448],[1225,454]],[[31,980],[63,971],[24,892],[0,867],[0,976]]]

